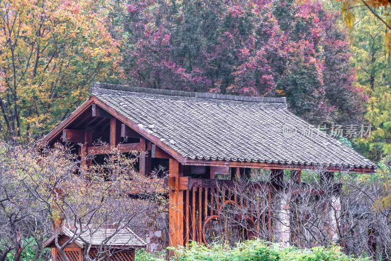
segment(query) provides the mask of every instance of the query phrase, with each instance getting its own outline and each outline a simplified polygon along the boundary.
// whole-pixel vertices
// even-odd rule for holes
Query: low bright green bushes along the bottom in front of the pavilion
[[[192,242],[188,249],[170,248],[175,252],[172,260],[177,261],[367,261],[355,259],[340,252],[338,247],[315,247],[301,250],[294,247],[281,248],[278,244],[261,240],[248,240],[230,248],[225,245],[206,247]],[[136,252],[136,261],[163,261],[144,250]]]

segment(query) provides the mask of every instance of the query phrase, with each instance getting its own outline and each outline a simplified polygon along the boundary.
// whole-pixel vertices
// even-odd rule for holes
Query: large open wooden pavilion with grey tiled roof
[[[94,146],[97,140],[109,144]],[[136,170],[148,175],[169,170],[169,244],[204,241],[203,227],[216,216],[214,191],[232,180],[216,174],[247,176],[252,168],[271,169],[269,195],[282,171],[322,166],[334,172],[375,173],[376,164],[311,126],[287,109],[285,98],[254,98],[95,83],[85,103],[43,138],[81,144],[79,155],[144,151]],[[84,164],[91,164],[85,162]],[[225,200],[237,200],[229,191]],[[272,220],[262,220],[271,229]],[[148,243],[148,242],[147,242]]]

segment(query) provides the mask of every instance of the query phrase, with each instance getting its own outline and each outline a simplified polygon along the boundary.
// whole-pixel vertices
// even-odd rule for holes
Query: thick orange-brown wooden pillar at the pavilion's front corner
[[[183,170],[176,159],[170,158],[169,165],[169,175],[175,178],[175,190],[169,192],[170,246],[183,246],[183,191],[179,191],[179,177]]]

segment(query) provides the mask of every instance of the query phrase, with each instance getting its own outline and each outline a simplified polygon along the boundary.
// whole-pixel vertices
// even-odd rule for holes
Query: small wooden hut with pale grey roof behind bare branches
[[[84,261],[83,251],[85,249],[85,243],[81,239],[85,239],[90,242],[91,248],[88,253],[89,258],[94,259],[100,252],[100,249],[107,249],[110,254],[106,260],[111,261],[134,261],[135,248],[145,247],[146,243],[143,239],[140,239],[129,228],[121,229],[106,242],[105,246],[101,248],[102,242],[108,238],[108,235],[113,234],[113,229],[96,229],[88,230],[81,234],[73,243],[65,247],[64,252],[70,261]],[[72,230],[62,227],[61,233],[58,237],[58,242],[63,245],[69,239],[74,238],[75,233]],[[64,261],[60,254],[60,251],[56,248],[55,236],[51,236],[47,239],[43,247],[52,248],[52,261]]]

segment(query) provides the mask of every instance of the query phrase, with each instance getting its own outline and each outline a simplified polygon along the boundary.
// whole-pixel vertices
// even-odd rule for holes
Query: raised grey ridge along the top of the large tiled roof
[[[210,98],[210,99],[228,100],[228,101],[286,104],[285,97],[282,98],[248,97],[248,96],[236,96],[236,95],[205,93],[205,92],[190,92],[190,91],[182,91],[182,90],[152,89],[152,88],[132,87],[132,86],[115,85],[115,84],[98,83],[98,82],[94,82],[92,88],[90,89],[91,95],[94,95],[93,94],[94,88],[104,88],[104,89],[111,89],[111,90],[131,91],[131,92],[143,92],[143,93],[151,93],[151,94],[163,94],[163,95],[182,96],[182,97]]]

